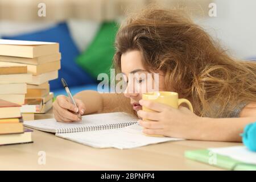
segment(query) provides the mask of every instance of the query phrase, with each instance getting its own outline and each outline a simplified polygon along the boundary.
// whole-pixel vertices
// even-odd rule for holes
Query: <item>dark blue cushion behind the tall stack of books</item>
[[[49,81],[51,90],[63,89],[63,85],[60,81],[62,77],[65,78],[69,86],[95,84],[97,82],[76,64],[75,59],[79,55],[79,50],[73,42],[65,22],[56,24],[56,26],[46,30],[36,31],[30,34],[3,36],[3,39],[57,42],[60,44],[61,69],[59,70],[59,78]]]

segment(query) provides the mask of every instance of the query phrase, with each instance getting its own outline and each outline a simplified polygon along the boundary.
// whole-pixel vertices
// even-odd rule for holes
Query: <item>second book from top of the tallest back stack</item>
[[[44,55],[40,57],[27,58],[27,57],[14,57],[14,56],[0,56],[0,61],[23,63],[23,64],[44,64],[61,59],[61,53],[57,52],[52,55]]]

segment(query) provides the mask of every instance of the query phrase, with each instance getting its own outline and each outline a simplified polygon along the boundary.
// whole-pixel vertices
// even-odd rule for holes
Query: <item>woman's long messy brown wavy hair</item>
[[[192,102],[195,113],[229,117],[256,101],[256,62],[235,60],[182,10],[146,9],[121,25],[114,67],[137,49],[149,72],[163,71],[167,90]]]

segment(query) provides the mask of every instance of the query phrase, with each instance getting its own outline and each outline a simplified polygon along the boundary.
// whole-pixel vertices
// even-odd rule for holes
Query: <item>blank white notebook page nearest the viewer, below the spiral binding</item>
[[[121,129],[64,133],[56,134],[56,136],[91,147],[114,147],[118,149],[128,149],[146,146],[153,143],[183,140],[169,137],[148,137],[142,133],[142,129],[143,128],[141,126],[135,124]]]

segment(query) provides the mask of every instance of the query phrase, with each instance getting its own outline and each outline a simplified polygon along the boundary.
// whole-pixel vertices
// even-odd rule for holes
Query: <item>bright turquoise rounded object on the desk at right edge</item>
[[[245,127],[242,141],[249,150],[256,152],[256,122],[250,123]]]

